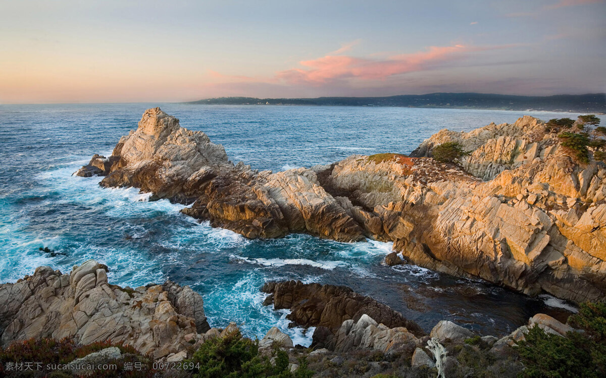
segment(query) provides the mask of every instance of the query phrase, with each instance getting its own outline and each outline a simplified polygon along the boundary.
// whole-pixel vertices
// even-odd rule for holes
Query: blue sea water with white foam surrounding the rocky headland
[[[308,235],[247,240],[197,223],[167,200],[147,201],[137,189],[103,189],[101,178],[72,176],[95,154],[110,155],[153,106],[225,146],[232,161],[281,171],[341,160],[351,154],[410,153],[442,128],[469,131],[490,122],[576,117],[550,112],[315,106],[184,104],[0,105],[0,282],[41,265],[69,272],[95,258],[108,279],[137,287],[171,279],[204,298],[210,325],[238,322],[249,336],[278,325],[295,343],[310,330],[289,328],[288,311],[264,307],[266,281],[347,285],[401,311],[430,330],[449,319],[504,334],[537,312],[565,317],[570,305],[528,298],[481,281],[416,266],[381,264],[390,243],[338,243]],[[49,247],[56,255],[39,251]]]

